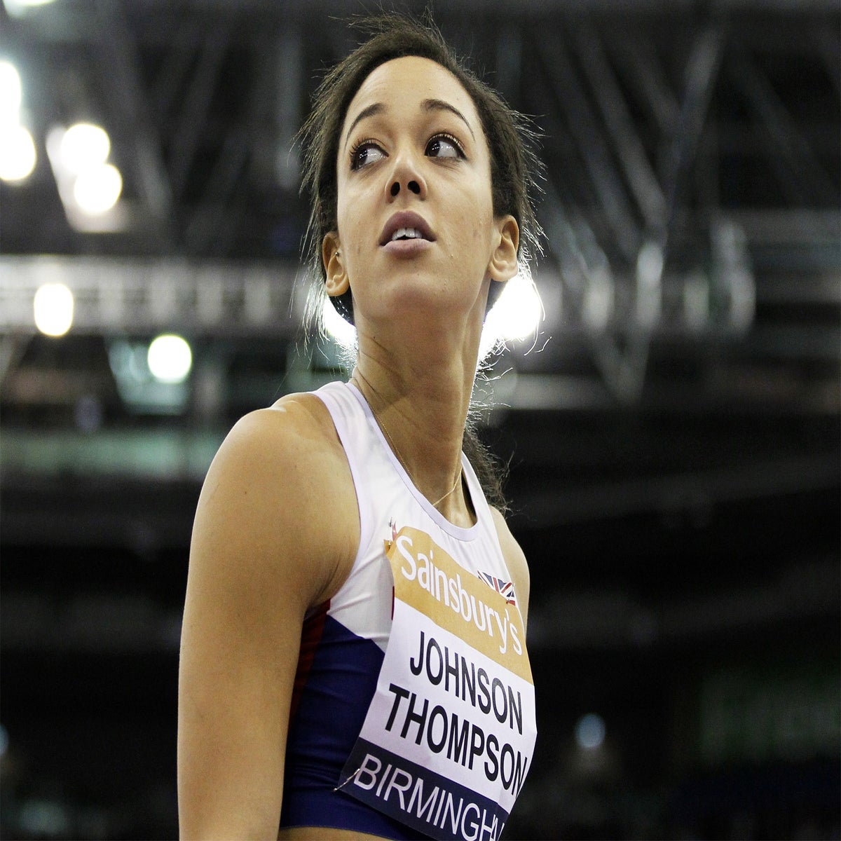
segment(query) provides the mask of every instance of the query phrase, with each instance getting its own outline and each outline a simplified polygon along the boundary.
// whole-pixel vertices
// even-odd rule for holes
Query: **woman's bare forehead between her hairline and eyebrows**
[[[458,108],[479,136],[479,115],[462,83],[446,67],[421,56],[403,56],[375,67],[351,100],[342,133],[350,120],[374,103],[388,109],[411,109],[421,108],[421,103],[429,99],[440,99]]]

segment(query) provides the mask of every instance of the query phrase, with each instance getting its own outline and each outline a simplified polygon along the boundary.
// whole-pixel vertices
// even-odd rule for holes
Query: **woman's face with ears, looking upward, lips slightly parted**
[[[494,218],[473,100],[434,61],[394,59],[362,83],[341,129],[337,187],[327,291],[350,283],[361,331],[397,314],[484,315],[489,280],[516,273],[516,222]]]

